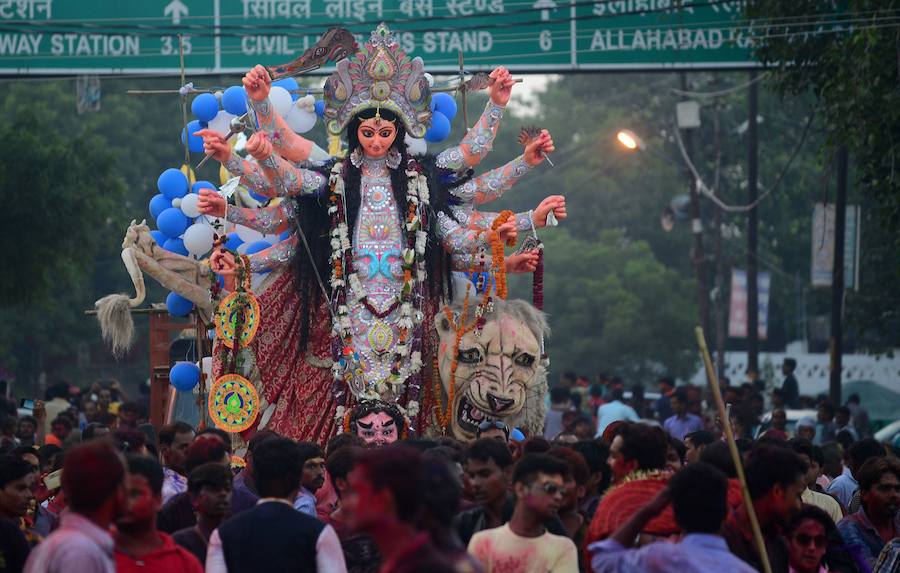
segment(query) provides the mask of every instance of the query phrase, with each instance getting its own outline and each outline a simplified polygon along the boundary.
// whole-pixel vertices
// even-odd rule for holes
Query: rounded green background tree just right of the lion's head
[[[560,229],[544,241],[554,368],[644,383],[663,373],[693,373],[697,313],[689,279],[621,230],[586,239]],[[524,286],[515,284],[513,296],[530,298]]]

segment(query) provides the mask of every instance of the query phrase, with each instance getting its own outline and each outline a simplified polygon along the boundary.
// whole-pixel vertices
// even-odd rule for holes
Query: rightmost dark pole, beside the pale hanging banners
[[[828,399],[837,406],[841,403],[841,370],[844,353],[844,233],[847,222],[847,148],[837,151],[837,202],[834,208],[834,265],[831,275],[831,354]]]

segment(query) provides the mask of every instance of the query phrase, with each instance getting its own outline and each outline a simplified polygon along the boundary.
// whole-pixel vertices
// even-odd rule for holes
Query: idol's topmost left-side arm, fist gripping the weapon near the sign
[[[247,90],[247,114],[257,131],[269,136],[275,151],[288,161],[309,159],[312,141],[294,133],[269,101],[272,79],[263,66],[256,66],[243,78]]]

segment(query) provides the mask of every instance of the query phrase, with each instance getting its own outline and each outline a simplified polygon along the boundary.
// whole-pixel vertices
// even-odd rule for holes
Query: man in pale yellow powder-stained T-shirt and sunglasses
[[[553,535],[544,522],[559,512],[569,468],[547,454],[526,454],[513,471],[516,508],[509,523],[480,531],[469,553],[490,572],[578,571],[578,551],[568,537]]]

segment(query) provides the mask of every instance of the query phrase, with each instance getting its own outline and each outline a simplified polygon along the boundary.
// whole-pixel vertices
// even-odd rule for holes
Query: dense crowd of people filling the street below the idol
[[[708,391],[669,379],[648,399],[566,374],[543,436],[409,439],[375,404],[390,432],[324,446],[154,428],[117,384],[57,384],[31,415],[0,404],[0,572],[900,570],[896,453],[856,396],[789,425],[808,398],[784,371],[722,389],[752,515]]]

